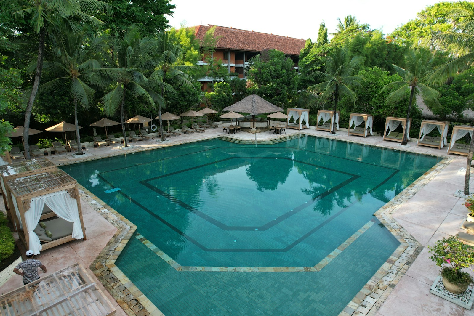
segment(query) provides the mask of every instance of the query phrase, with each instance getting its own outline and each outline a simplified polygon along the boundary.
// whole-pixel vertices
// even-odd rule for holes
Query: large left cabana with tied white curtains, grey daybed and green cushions
[[[18,235],[25,247],[41,250],[86,240],[77,182],[62,170],[29,175],[7,182],[19,219]],[[41,221],[47,205],[58,218]]]

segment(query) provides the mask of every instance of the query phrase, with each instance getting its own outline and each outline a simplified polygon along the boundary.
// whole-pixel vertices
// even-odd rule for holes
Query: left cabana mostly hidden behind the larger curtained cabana
[[[11,192],[7,188],[7,182],[12,179],[43,173],[50,170],[57,170],[57,168],[54,163],[50,162],[46,158],[31,159],[0,166],[0,185],[2,192],[4,193],[2,194],[3,203],[5,204],[7,217],[13,225],[14,231],[17,231],[18,229],[18,219],[15,216],[15,208],[11,207]],[[45,206],[41,219],[51,216],[54,216],[54,213],[52,213],[51,210]]]

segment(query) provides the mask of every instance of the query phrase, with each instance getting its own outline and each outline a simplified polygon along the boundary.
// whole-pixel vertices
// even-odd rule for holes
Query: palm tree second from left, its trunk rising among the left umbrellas
[[[95,90],[87,82],[101,85],[98,73],[101,69],[103,52],[107,42],[102,37],[92,38],[85,43],[84,34],[75,35],[71,32],[55,34],[55,59],[44,62],[45,68],[50,69],[61,77],[41,85],[41,89],[51,90],[65,86],[74,100],[74,122],[76,125],[77,154],[82,154],[81,136],[77,119],[77,105],[87,108]],[[41,91],[40,89],[40,91]]]

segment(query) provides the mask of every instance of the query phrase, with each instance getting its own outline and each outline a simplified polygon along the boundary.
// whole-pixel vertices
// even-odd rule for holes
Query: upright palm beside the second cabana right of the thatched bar
[[[354,75],[356,69],[363,64],[365,57],[354,56],[349,61],[349,53],[345,47],[336,48],[332,54],[325,58],[325,72],[312,72],[309,78],[323,80],[308,88],[308,90],[319,93],[319,102],[329,96],[334,97],[334,113],[332,118],[331,134],[336,134],[336,110],[337,100],[340,95],[346,95],[356,104],[356,93],[351,90],[350,86],[360,86],[360,81],[364,81],[362,76]]]

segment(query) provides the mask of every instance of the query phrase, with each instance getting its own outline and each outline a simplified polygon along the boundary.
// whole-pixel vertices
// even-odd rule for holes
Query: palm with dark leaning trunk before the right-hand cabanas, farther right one
[[[390,92],[385,101],[387,104],[394,104],[399,101],[403,96],[406,95],[410,90],[410,99],[407,110],[407,122],[410,120],[410,111],[413,104],[413,97],[415,95],[421,95],[421,97],[432,103],[439,104],[438,99],[440,94],[437,90],[428,87],[427,76],[432,70],[433,54],[425,48],[414,48],[405,54],[405,69],[400,68],[397,65],[393,65],[393,68],[403,78],[403,81],[393,81],[387,84],[383,89],[389,87],[395,87],[397,90]],[[408,128],[405,128],[401,144],[406,146],[407,144]]]

